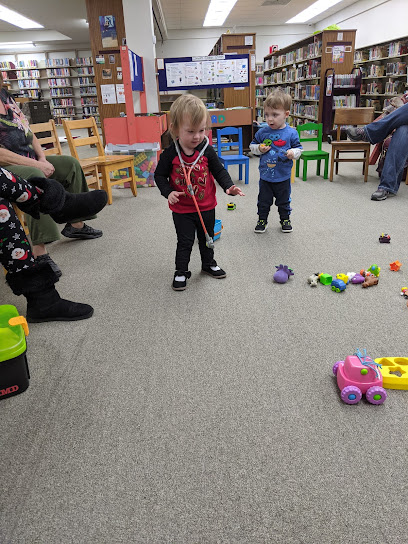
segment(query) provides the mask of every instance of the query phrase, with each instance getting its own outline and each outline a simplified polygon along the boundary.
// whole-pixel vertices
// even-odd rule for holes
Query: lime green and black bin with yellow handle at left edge
[[[28,325],[11,304],[0,306],[0,400],[18,395],[29,386]]]

